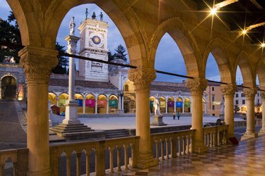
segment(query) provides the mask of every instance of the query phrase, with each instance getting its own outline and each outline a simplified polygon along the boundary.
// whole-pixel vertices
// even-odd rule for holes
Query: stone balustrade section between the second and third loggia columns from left
[[[194,132],[195,130],[182,130],[151,134],[151,146],[155,145],[154,157],[163,161],[170,156],[175,158],[192,153]]]

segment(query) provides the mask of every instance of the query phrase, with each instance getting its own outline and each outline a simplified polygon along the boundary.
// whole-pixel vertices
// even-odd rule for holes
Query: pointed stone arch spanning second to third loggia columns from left
[[[165,33],[170,34],[172,39],[179,46],[184,63],[187,69],[187,75],[191,77],[201,77],[199,72],[201,68],[201,56],[199,54],[199,47],[196,44],[196,39],[190,30],[180,18],[169,18],[161,23],[153,33],[150,44],[149,57],[151,58],[151,68],[154,68],[155,53],[158,48],[158,44]]]

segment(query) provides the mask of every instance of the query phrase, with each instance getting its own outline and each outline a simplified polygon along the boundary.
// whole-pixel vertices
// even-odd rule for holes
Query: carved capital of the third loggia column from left
[[[190,89],[192,96],[202,96],[207,85],[207,80],[201,78],[188,79],[186,83],[186,86]]]

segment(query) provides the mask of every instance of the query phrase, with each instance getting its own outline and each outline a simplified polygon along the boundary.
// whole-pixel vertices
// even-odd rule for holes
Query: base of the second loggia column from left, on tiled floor
[[[146,169],[158,165],[158,160],[151,156],[151,153],[139,154],[137,158],[137,168]]]

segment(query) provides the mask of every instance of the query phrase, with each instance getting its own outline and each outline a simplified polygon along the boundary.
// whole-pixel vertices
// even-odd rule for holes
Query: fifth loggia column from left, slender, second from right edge
[[[241,140],[258,137],[255,130],[255,112],[254,112],[254,99],[257,94],[257,89],[243,89],[247,100],[247,130],[241,137]]]

